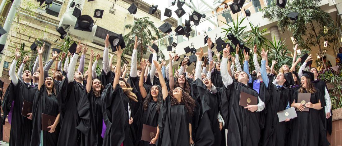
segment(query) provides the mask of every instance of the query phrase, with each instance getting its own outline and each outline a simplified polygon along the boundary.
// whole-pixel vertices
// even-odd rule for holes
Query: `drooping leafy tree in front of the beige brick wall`
[[[123,54],[132,55],[135,36],[137,36],[137,49],[141,50],[140,54],[137,54],[138,62],[144,58],[144,54],[147,54],[147,46],[152,45],[152,41],[161,38],[158,28],[154,25],[153,21],[149,20],[149,17],[141,17],[133,25],[126,25],[125,29],[131,29],[131,31],[123,36],[127,45],[126,49],[123,50]],[[165,60],[165,56],[161,51],[159,51],[158,56],[160,59]]]

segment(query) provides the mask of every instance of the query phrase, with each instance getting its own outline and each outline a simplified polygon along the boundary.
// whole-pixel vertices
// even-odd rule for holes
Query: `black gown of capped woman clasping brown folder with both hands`
[[[298,103],[299,90],[295,91],[290,98],[291,103]],[[315,104],[324,101],[323,95],[316,89],[311,94],[310,102]],[[321,102],[324,108],[325,102]],[[297,112],[297,118],[291,119],[291,133],[288,141],[290,146],[328,146],[327,132],[321,120],[320,110],[310,108],[309,112]]]

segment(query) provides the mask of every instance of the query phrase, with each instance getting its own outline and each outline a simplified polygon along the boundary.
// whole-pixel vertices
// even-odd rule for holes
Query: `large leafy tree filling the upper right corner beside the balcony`
[[[321,50],[325,41],[328,41],[328,47],[334,44],[337,27],[330,14],[318,7],[320,2],[321,0],[292,0],[287,1],[286,8],[283,9],[272,1],[271,5],[263,8],[263,12],[271,20],[278,19],[278,27],[283,32],[285,29],[291,31],[301,48],[311,50],[311,47],[318,46]],[[299,13],[296,21],[287,17],[290,12]]]

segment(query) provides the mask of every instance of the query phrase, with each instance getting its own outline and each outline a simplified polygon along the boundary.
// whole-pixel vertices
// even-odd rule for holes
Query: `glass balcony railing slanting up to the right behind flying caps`
[[[214,14],[211,16],[207,16],[205,19],[202,19],[198,26],[192,25],[189,38],[193,38],[197,35],[203,35],[205,32],[209,32],[213,29],[219,28],[224,26],[224,23],[232,23],[233,20],[239,17],[245,17],[245,10],[249,10],[251,15],[254,13],[260,12],[262,8],[270,4],[271,0],[250,0],[245,2],[244,6],[241,8],[241,12],[233,14],[231,9],[224,9],[219,12],[213,12]],[[171,45],[172,42],[181,43],[183,41],[188,40],[188,38],[183,35],[182,40],[177,40],[177,36],[173,31],[169,35],[163,36],[161,39],[158,40],[159,49],[164,50],[167,49],[168,45]]]

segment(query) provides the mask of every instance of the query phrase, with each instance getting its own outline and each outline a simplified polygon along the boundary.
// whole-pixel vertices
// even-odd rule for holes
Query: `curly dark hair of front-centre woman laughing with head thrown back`
[[[182,102],[178,102],[177,99],[173,97],[172,91],[169,91],[169,96],[171,97],[171,105],[177,105],[183,102],[185,104],[187,113],[190,116],[193,116],[196,104],[195,104],[195,100],[189,95],[189,93],[185,92],[182,89],[182,98],[183,98]]]

